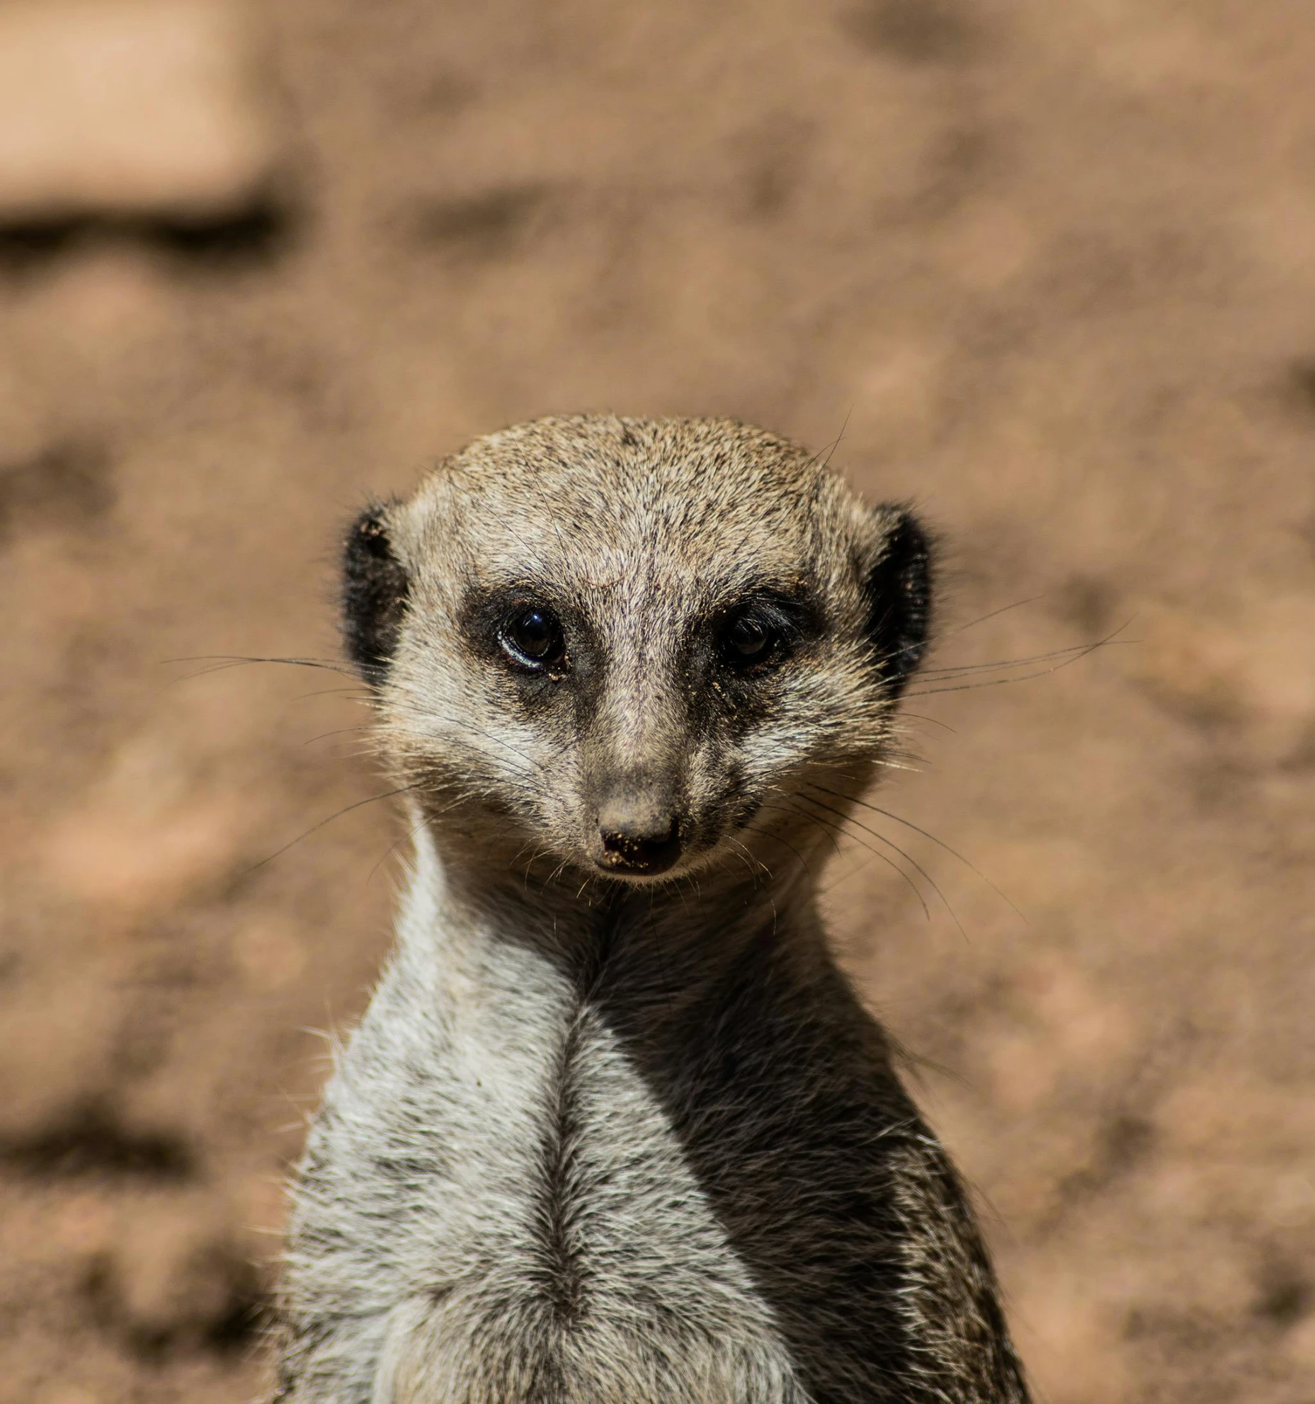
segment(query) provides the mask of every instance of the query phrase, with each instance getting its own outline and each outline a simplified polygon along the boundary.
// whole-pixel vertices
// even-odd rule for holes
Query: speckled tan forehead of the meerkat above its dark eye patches
[[[580,591],[815,588],[863,508],[799,445],[729,420],[538,420],[475,441],[396,522],[419,577]]]

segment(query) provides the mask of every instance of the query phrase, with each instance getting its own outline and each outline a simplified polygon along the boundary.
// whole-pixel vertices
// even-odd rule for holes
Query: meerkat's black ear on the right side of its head
[[[864,581],[868,601],[867,635],[882,682],[894,696],[899,696],[927,651],[931,629],[931,543],[913,514],[905,508],[878,507],[875,515],[888,525],[881,557]]]

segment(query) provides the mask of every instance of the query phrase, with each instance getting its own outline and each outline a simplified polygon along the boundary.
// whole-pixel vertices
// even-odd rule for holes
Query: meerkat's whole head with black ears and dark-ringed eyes
[[[631,882],[784,841],[805,776],[853,792],[929,612],[906,511],[728,421],[490,435],[346,549],[348,651],[426,821]]]

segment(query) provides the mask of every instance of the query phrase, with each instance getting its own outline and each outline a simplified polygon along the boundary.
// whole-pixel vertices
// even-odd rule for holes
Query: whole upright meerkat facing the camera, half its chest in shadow
[[[355,522],[346,644],[414,855],[296,1175],[280,1398],[1026,1401],[818,914],[930,556],[722,420],[539,420]]]

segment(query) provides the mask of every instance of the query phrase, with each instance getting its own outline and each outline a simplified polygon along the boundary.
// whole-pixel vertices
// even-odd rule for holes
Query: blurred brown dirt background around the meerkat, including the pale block
[[[257,1394],[388,941],[385,804],[271,858],[382,788],[354,694],[169,660],[333,657],[367,494],[617,409],[843,430],[944,535],[933,668],[1117,633],[915,688],[837,939],[1041,1398],[1312,1404],[1308,0],[8,0],[0,51],[0,1396]]]

